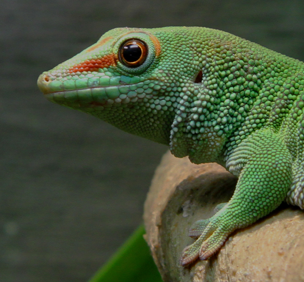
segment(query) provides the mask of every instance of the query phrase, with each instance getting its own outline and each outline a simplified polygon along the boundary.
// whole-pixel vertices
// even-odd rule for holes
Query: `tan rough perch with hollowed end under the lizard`
[[[215,214],[236,181],[216,163],[195,165],[187,157],[164,155],[144,211],[146,240],[164,282],[304,281],[304,212],[287,205],[236,230],[209,260],[179,266],[181,251],[193,242],[189,227]]]

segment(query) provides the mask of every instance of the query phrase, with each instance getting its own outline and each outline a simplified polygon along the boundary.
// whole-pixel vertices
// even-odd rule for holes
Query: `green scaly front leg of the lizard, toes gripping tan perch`
[[[183,250],[180,264],[208,259],[238,228],[254,223],[285,200],[292,181],[292,157],[282,136],[263,129],[244,139],[230,154],[228,166],[241,169],[230,201],[201,228],[202,235]]]

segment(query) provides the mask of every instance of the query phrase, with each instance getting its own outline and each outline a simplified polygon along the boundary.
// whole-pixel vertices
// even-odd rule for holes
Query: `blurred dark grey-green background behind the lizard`
[[[0,1],[0,281],[88,280],[141,222],[166,146],[48,102],[38,75],[121,26],[207,26],[304,60],[304,2]]]

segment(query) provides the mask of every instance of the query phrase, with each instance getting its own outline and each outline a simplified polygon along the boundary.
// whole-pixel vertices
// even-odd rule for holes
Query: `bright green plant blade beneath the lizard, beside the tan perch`
[[[162,282],[144,233],[141,225],[89,282]]]

